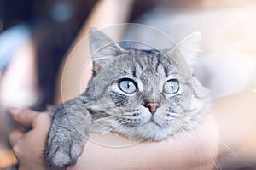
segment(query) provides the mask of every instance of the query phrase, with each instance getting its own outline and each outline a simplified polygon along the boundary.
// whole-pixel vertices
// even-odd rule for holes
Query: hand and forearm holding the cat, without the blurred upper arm
[[[14,109],[9,110],[16,122],[26,127],[32,127],[28,133],[15,130],[10,134],[10,143],[19,161],[20,169],[30,170],[35,167],[42,170],[47,169],[44,166],[43,150],[49,130],[49,116],[31,110],[20,110],[18,114],[14,114],[14,111]],[[92,143],[89,139],[77,164],[67,169],[192,169],[190,167],[197,169],[199,166],[212,167],[213,161],[206,165],[200,164],[209,162],[212,160],[212,156],[217,155],[218,141],[215,141],[218,139],[217,132],[207,134],[216,131],[212,117],[207,116],[207,122],[202,126],[201,130],[194,133],[183,133],[177,139],[143,142],[123,148],[104,147]],[[205,138],[206,135],[207,138]],[[105,142],[117,139],[127,143],[128,140],[113,134],[102,138],[105,138]],[[206,151],[207,147],[210,147],[211,150]]]

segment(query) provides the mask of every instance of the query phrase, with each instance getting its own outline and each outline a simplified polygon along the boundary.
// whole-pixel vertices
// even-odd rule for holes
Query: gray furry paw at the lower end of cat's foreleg
[[[84,142],[82,140],[85,139],[77,139],[78,136],[75,137],[75,134],[63,129],[50,133],[52,134],[49,134],[44,151],[49,167],[51,169],[64,169],[76,163],[78,156],[84,149]]]

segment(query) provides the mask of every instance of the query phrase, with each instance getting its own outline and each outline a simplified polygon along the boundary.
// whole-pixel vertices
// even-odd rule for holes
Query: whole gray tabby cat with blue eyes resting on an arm
[[[51,111],[49,166],[75,163],[90,132],[159,141],[195,129],[211,105],[208,90],[190,72],[199,42],[200,34],[194,33],[171,50],[123,49],[92,29],[93,77],[84,94]]]

